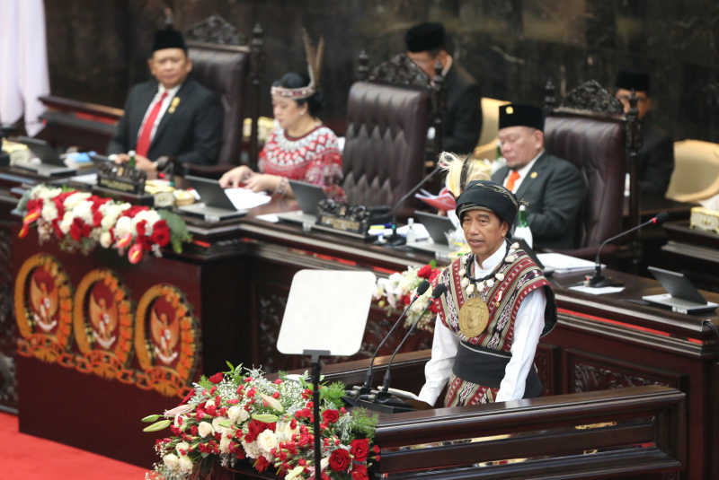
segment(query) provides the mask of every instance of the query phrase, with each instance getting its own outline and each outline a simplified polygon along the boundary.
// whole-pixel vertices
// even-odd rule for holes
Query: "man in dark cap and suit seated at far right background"
[[[647,116],[652,108],[649,74],[622,70],[617,75],[616,86],[617,99],[624,104],[625,113],[629,111],[629,95],[635,91],[638,117],[642,120],[642,148],[637,155],[639,192],[664,196],[674,171],[674,142],[667,132],[652,125],[651,115]],[[626,167],[628,169],[629,165]]]

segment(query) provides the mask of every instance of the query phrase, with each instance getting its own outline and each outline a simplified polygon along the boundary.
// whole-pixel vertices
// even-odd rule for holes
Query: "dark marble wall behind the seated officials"
[[[655,121],[675,139],[719,143],[719,3],[715,0],[46,0],[52,93],[121,107],[147,77],[146,53],[164,9],[185,29],[219,14],[250,34],[265,31],[263,114],[269,85],[306,69],[304,26],[326,48],[325,119],[344,115],[357,55],[370,65],[404,51],[404,31],[444,22],[455,59],[483,95],[541,104],[585,80],[613,86],[618,69],[652,74]],[[333,125],[335,122],[333,122]],[[342,122],[340,122],[342,124]],[[342,132],[340,132],[342,133]]]

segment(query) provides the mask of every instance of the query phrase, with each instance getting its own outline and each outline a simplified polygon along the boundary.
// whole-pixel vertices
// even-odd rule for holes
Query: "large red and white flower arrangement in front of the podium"
[[[348,412],[342,395],[341,383],[320,388],[322,478],[366,480],[368,459],[379,459],[377,446],[370,448],[377,415]],[[146,478],[207,476],[217,465],[234,467],[244,458],[260,472],[276,468],[285,480],[314,478],[313,406],[312,386],[304,378],[280,375],[270,381],[262,371],[232,365],[230,371],[202,377],[180,406],[143,419],[155,422],[146,432],[168,426],[173,432],[155,444],[162,461]]]

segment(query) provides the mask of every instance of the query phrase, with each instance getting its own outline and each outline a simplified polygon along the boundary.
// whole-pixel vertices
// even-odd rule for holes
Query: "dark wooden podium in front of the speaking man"
[[[389,357],[377,359],[377,374]],[[393,377],[417,391],[429,352],[402,353]],[[324,369],[361,382],[368,361]],[[686,466],[686,397],[647,386],[379,415],[370,478],[678,478]],[[271,478],[230,469],[235,480]]]

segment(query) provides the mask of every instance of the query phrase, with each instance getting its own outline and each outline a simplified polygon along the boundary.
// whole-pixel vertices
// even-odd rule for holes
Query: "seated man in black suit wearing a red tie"
[[[182,163],[217,163],[222,104],[215,93],[187,78],[192,60],[182,33],[155,33],[147,64],[155,80],[130,90],[108,153],[115,161],[129,161],[134,151],[137,168],[146,171],[156,170],[157,160],[166,156]]]

